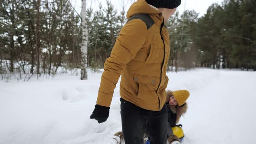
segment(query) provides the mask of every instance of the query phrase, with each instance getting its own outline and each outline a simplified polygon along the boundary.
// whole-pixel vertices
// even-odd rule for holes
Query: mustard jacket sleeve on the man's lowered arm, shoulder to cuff
[[[139,19],[131,20],[121,29],[111,55],[106,59],[97,104],[109,107],[121,70],[146,42],[147,26]]]

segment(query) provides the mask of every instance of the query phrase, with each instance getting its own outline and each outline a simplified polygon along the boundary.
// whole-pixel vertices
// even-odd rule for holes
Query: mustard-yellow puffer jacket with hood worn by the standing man
[[[161,12],[145,0],[138,0],[128,10],[127,18],[148,14],[154,21],[150,27],[140,19],[132,19],[121,29],[111,56],[106,59],[97,104],[109,107],[121,75],[120,95],[126,101],[152,111],[165,104],[166,76],[170,41]]]

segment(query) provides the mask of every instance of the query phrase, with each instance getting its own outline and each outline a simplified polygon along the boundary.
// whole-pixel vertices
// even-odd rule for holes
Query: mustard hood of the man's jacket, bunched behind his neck
[[[151,13],[161,13],[155,10],[145,0],[138,0],[133,3],[127,12],[127,19],[129,20],[131,16],[135,14],[151,14]]]

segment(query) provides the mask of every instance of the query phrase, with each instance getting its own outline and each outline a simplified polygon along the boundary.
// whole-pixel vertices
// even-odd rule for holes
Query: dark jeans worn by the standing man
[[[150,144],[166,144],[166,105],[161,111],[149,111],[123,98],[120,98],[120,101],[125,144],[143,144],[144,131],[147,131],[150,137]]]

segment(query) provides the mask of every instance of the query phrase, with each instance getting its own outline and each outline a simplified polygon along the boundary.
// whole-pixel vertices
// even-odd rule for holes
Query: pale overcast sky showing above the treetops
[[[81,0],[70,0],[73,7],[77,10],[78,13],[81,12]],[[90,7],[92,4],[92,8],[95,10],[98,9],[99,3],[102,3],[103,7],[106,5],[106,0],[86,0],[87,1],[87,7]],[[121,11],[121,4],[124,1],[126,10],[129,9],[131,6],[131,3],[137,1],[137,0],[110,0],[113,5],[115,6],[116,10]],[[203,14],[206,13],[207,8],[212,3],[219,3],[221,4],[223,0],[181,0],[181,5],[177,8],[178,11],[181,13],[184,11],[184,8],[186,10],[195,10],[197,13],[199,13],[199,16],[203,16]],[[185,5],[186,2],[186,5]]]

